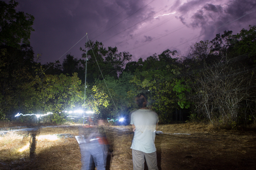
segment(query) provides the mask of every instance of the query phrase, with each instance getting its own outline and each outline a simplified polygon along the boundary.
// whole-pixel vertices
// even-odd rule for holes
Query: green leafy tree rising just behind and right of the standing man
[[[177,95],[173,91],[175,77],[180,74],[180,63],[175,58],[177,51],[167,49],[160,55],[152,55],[137,62],[137,70],[130,81],[137,93],[144,92],[152,109],[159,114],[161,122],[170,122],[177,108]]]

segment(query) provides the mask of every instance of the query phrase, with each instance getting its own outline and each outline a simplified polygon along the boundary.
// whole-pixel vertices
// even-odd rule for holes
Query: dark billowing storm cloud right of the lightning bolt
[[[193,0],[179,7],[177,18],[190,28],[199,28],[204,40],[212,39],[224,30],[238,32],[241,26],[256,24],[256,1],[234,0],[224,4],[218,1]],[[195,6],[200,6],[195,8]]]

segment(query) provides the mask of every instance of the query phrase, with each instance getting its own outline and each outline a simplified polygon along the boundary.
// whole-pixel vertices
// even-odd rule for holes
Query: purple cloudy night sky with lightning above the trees
[[[9,0],[4,0],[8,2]],[[104,47],[128,51],[133,61],[167,48],[186,55],[189,46],[224,30],[237,34],[256,25],[255,0],[15,0],[35,17],[30,37],[41,63],[62,63],[87,33]],[[81,58],[86,37],[68,54]]]

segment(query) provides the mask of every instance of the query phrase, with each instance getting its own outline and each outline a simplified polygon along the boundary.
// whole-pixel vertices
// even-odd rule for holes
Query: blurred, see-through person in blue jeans
[[[105,170],[109,144],[103,128],[93,126],[79,127],[76,136],[81,152],[81,170]],[[94,164],[93,164],[94,161]]]

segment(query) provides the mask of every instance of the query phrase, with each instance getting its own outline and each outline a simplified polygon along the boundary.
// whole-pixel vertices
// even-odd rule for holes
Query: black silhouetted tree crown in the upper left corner
[[[9,4],[0,1],[0,45],[20,47],[19,43],[29,44],[34,17],[24,12],[16,12],[18,3],[10,0]]]

